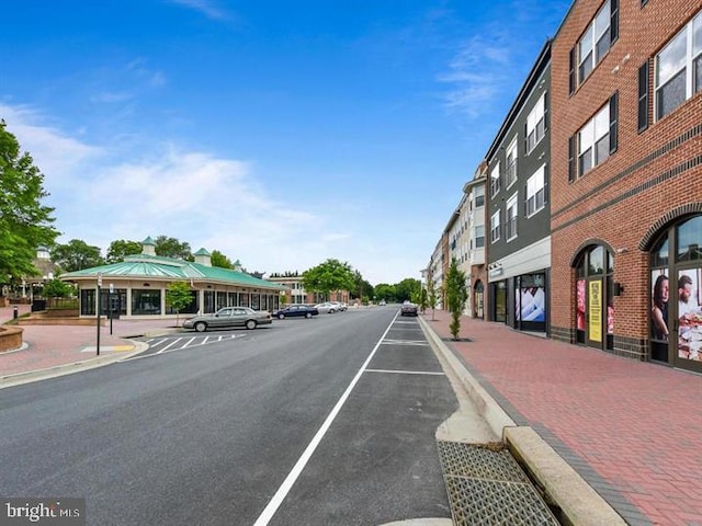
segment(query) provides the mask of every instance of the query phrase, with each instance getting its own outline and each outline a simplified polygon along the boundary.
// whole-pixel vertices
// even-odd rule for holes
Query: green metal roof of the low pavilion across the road
[[[244,272],[149,254],[128,255],[120,263],[69,272],[61,274],[59,278],[64,281],[80,278],[97,279],[98,273],[102,273],[103,278],[113,276],[120,278],[135,277],[174,281],[199,279],[275,290],[283,290],[285,288],[276,283],[259,279]]]

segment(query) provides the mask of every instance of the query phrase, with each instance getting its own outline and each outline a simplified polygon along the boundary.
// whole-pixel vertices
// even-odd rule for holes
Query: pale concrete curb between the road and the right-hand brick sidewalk
[[[534,430],[516,425],[424,319],[420,317],[419,322],[432,347],[441,354],[460,378],[479,414],[495,434],[502,437],[512,455],[521,461],[532,480],[544,492],[546,502],[561,508],[565,524],[626,525],[621,515]]]

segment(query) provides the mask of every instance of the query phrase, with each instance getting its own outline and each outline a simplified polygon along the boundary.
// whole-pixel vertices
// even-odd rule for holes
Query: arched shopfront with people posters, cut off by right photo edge
[[[702,373],[702,215],[666,227],[649,258],[650,359]]]

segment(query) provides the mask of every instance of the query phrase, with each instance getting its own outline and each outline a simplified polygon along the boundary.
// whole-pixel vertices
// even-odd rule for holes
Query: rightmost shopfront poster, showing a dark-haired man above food
[[[702,362],[702,268],[678,271],[678,356]]]

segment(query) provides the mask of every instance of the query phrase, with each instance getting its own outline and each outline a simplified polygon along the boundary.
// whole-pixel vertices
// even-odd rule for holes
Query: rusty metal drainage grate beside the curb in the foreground
[[[559,524],[507,449],[438,445],[455,525]]]

